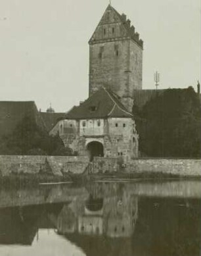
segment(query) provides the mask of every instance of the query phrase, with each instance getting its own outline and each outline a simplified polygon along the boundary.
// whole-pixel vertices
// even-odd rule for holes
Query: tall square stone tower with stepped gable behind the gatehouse
[[[109,87],[131,111],[133,90],[142,89],[143,40],[125,14],[108,5],[89,40],[89,96]]]

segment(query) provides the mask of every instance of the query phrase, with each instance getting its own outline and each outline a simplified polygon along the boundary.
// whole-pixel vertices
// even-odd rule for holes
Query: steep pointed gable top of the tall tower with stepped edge
[[[120,33],[118,36],[116,34],[114,34],[112,37],[110,36],[110,38],[102,38],[102,36],[100,36],[106,25],[114,26],[115,24],[120,26]],[[102,15],[102,18],[100,19],[97,28],[95,29],[95,32],[93,33],[93,36],[91,39],[89,39],[89,44],[108,41],[108,39],[110,41],[111,39],[115,38],[133,39],[133,41],[135,41],[140,47],[143,48],[143,40],[139,38],[139,33],[135,32],[135,27],[131,26],[131,21],[126,18],[125,14],[121,15],[118,13],[118,11],[116,11],[116,9],[114,9],[114,7],[112,7],[112,5],[108,5],[104,11],[104,14]]]

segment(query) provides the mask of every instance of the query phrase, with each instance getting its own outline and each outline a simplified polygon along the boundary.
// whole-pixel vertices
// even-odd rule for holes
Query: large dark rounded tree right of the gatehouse
[[[134,113],[135,115],[135,113]],[[140,147],[150,157],[200,157],[200,101],[193,88],[169,89],[139,111]]]

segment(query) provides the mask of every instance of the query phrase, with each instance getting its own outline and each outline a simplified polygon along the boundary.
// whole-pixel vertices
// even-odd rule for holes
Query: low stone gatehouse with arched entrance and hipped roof
[[[50,134],[59,134],[66,146],[90,160],[114,157],[127,162],[138,157],[139,136],[133,115],[118,95],[106,88],[69,111]]]

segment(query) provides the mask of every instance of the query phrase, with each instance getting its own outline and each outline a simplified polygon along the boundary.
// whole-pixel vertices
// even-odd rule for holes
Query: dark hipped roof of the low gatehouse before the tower
[[[118,95],[104,87],[95,92],[78,107],[73,107],[65,116],[68,119],[91,119],[122,117],[133,118],[118,98]]]

